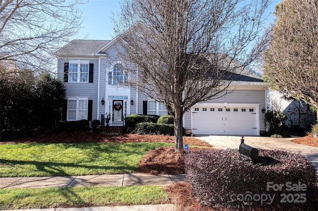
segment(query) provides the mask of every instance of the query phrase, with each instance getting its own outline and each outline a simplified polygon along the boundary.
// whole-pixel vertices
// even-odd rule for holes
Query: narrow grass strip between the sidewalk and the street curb
[[[0,210],[169,203],[163,187],[0,189]]]

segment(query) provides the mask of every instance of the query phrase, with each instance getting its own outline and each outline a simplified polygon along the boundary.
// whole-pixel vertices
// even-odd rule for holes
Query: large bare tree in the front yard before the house
[[[115,34],[119,55],[130,62],[124,68],[136,76],[129,85],[173,114],[175,151],[183,149],[183,114],[198,102],[224,96],[232,73],[260,53],[247,47],[261,32],[268,3],[125,0],[121,5]]]

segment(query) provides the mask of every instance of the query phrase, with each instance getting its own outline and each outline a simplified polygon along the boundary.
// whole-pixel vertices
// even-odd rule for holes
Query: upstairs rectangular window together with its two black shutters
[[[69,60],[64,63],[64,82],[93,83],[93,68],[87,60]]]

